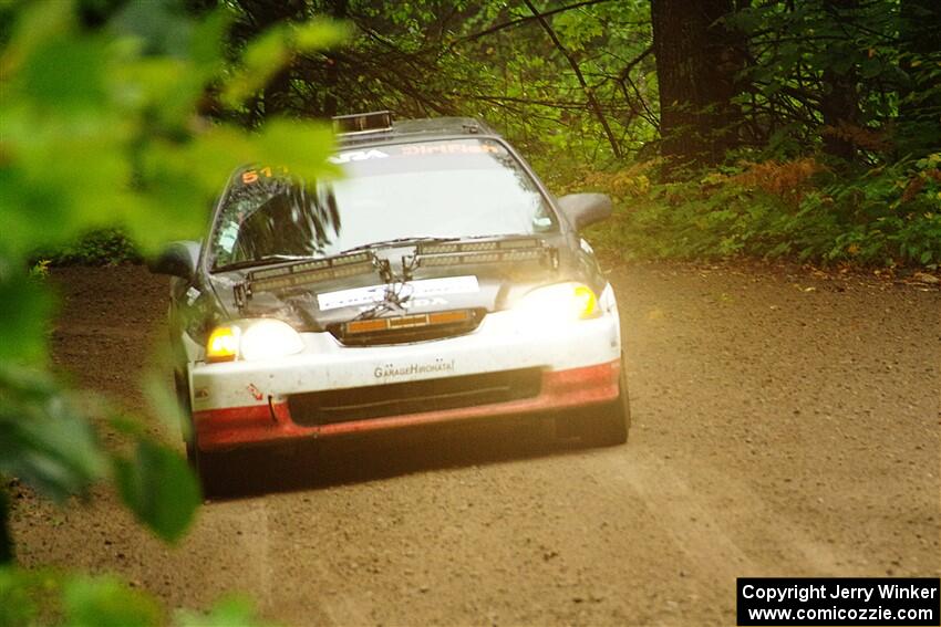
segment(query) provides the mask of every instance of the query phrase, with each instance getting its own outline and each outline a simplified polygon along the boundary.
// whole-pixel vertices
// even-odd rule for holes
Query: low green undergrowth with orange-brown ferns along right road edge
[[[747,255],[877,268],[941,263],[941,154],[871,169],[849,182],[814,158],[745,163],[689,181],[651,182],[652,165],[588,173],[614,219],[591,233],[621,259]]]

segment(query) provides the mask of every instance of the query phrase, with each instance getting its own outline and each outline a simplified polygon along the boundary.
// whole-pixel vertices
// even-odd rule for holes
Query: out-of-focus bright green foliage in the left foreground
[[[111,480],[141,523],[170,542],[201,500],[174,449],[48,369],[54,295],[45,275],[54,254],[43,260],[37,251],[83,261],[153,253],[167,240],[197,236],[236,166],[278,163],[314,178],[332,150],[323,124],[271,118],[247,133],[196,113],[206,93],[225,91],[234,75],[223,54],[232,20],[225,8],[197,19],[170,0],[138,0],[114,3],[91,24],[87,3],[81,9],[49,0],[0,11],[0,562],[14,556],[3,494],[13,478],[62,505]],[[291,36],[262,38],[234,62],[251,70],[263,58],[277,71],[297,48],[341,36],[318,21]],[[239,84],[236,93],[251,91]],[[96,229],[105,230],[69,252]],[[114,229],[126,238],[117,244]],[[166,404],[155,410],[167,411]],[[105,425],[122,435],[121,450],[103,445]],[[60,619],[165,623],[149,595],[115,579],[0,566],[0,624]],[[254,613],[229,603],[206,616],[177,616],[180,625],[225,621],[254,624]]]

